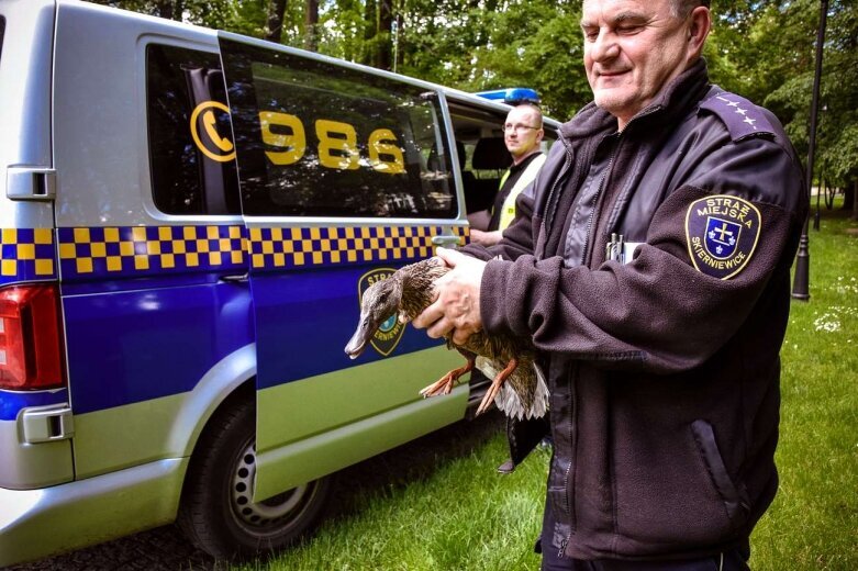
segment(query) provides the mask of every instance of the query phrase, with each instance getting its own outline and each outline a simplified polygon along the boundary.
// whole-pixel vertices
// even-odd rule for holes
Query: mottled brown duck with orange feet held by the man
[[[433,301],[435,280],[449,271],[443,261],[428,258],[403,266],[386,280],[370,286],[361,296],[360,322],[346,345],[346,355],[357,358],[376,331],[391,315],[409,322]],[[526,339],[484,332],[468,337],[464,345],[447,336],[447,347],[455,348],[468,362],[449,371],[420,393],[423,396],[449,394],[456,381],[476,366],[492,379],[477,414],[486,412],[492,401],[512,418],[538,418],[548,408],[548,389],[535,362],[535,350]]]

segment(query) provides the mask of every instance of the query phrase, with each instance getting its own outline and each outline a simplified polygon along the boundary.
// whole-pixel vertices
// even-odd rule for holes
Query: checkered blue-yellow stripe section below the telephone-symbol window
[[[244,226],[59,228],[64,277],[136,277],[246,266]]]

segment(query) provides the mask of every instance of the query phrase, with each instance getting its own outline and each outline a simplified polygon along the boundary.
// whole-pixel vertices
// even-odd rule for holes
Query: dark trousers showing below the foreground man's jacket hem
[[[550,503],[546,503],[543,516],[543,535],[536,544],[536,551],[543,555],[542,571],[749,571],[747,560],[749,552],[733,549],[712,557],[690,560],[662,561],[623,561],[619,559],[600,559],[582,561],[560,557],[557,548],[551,545],[554,515]],[[546,548],[543,549],[542,546]]]

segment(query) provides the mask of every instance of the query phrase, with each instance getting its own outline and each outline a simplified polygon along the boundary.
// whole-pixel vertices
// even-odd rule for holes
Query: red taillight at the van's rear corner
[[[0,389],[63,387],[62,327],[56,284],[0,289]]]

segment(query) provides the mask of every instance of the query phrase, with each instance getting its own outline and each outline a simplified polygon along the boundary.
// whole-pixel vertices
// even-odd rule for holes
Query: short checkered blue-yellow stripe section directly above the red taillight
[[[0,229],[0,283],[56,278],[52,228]]]

